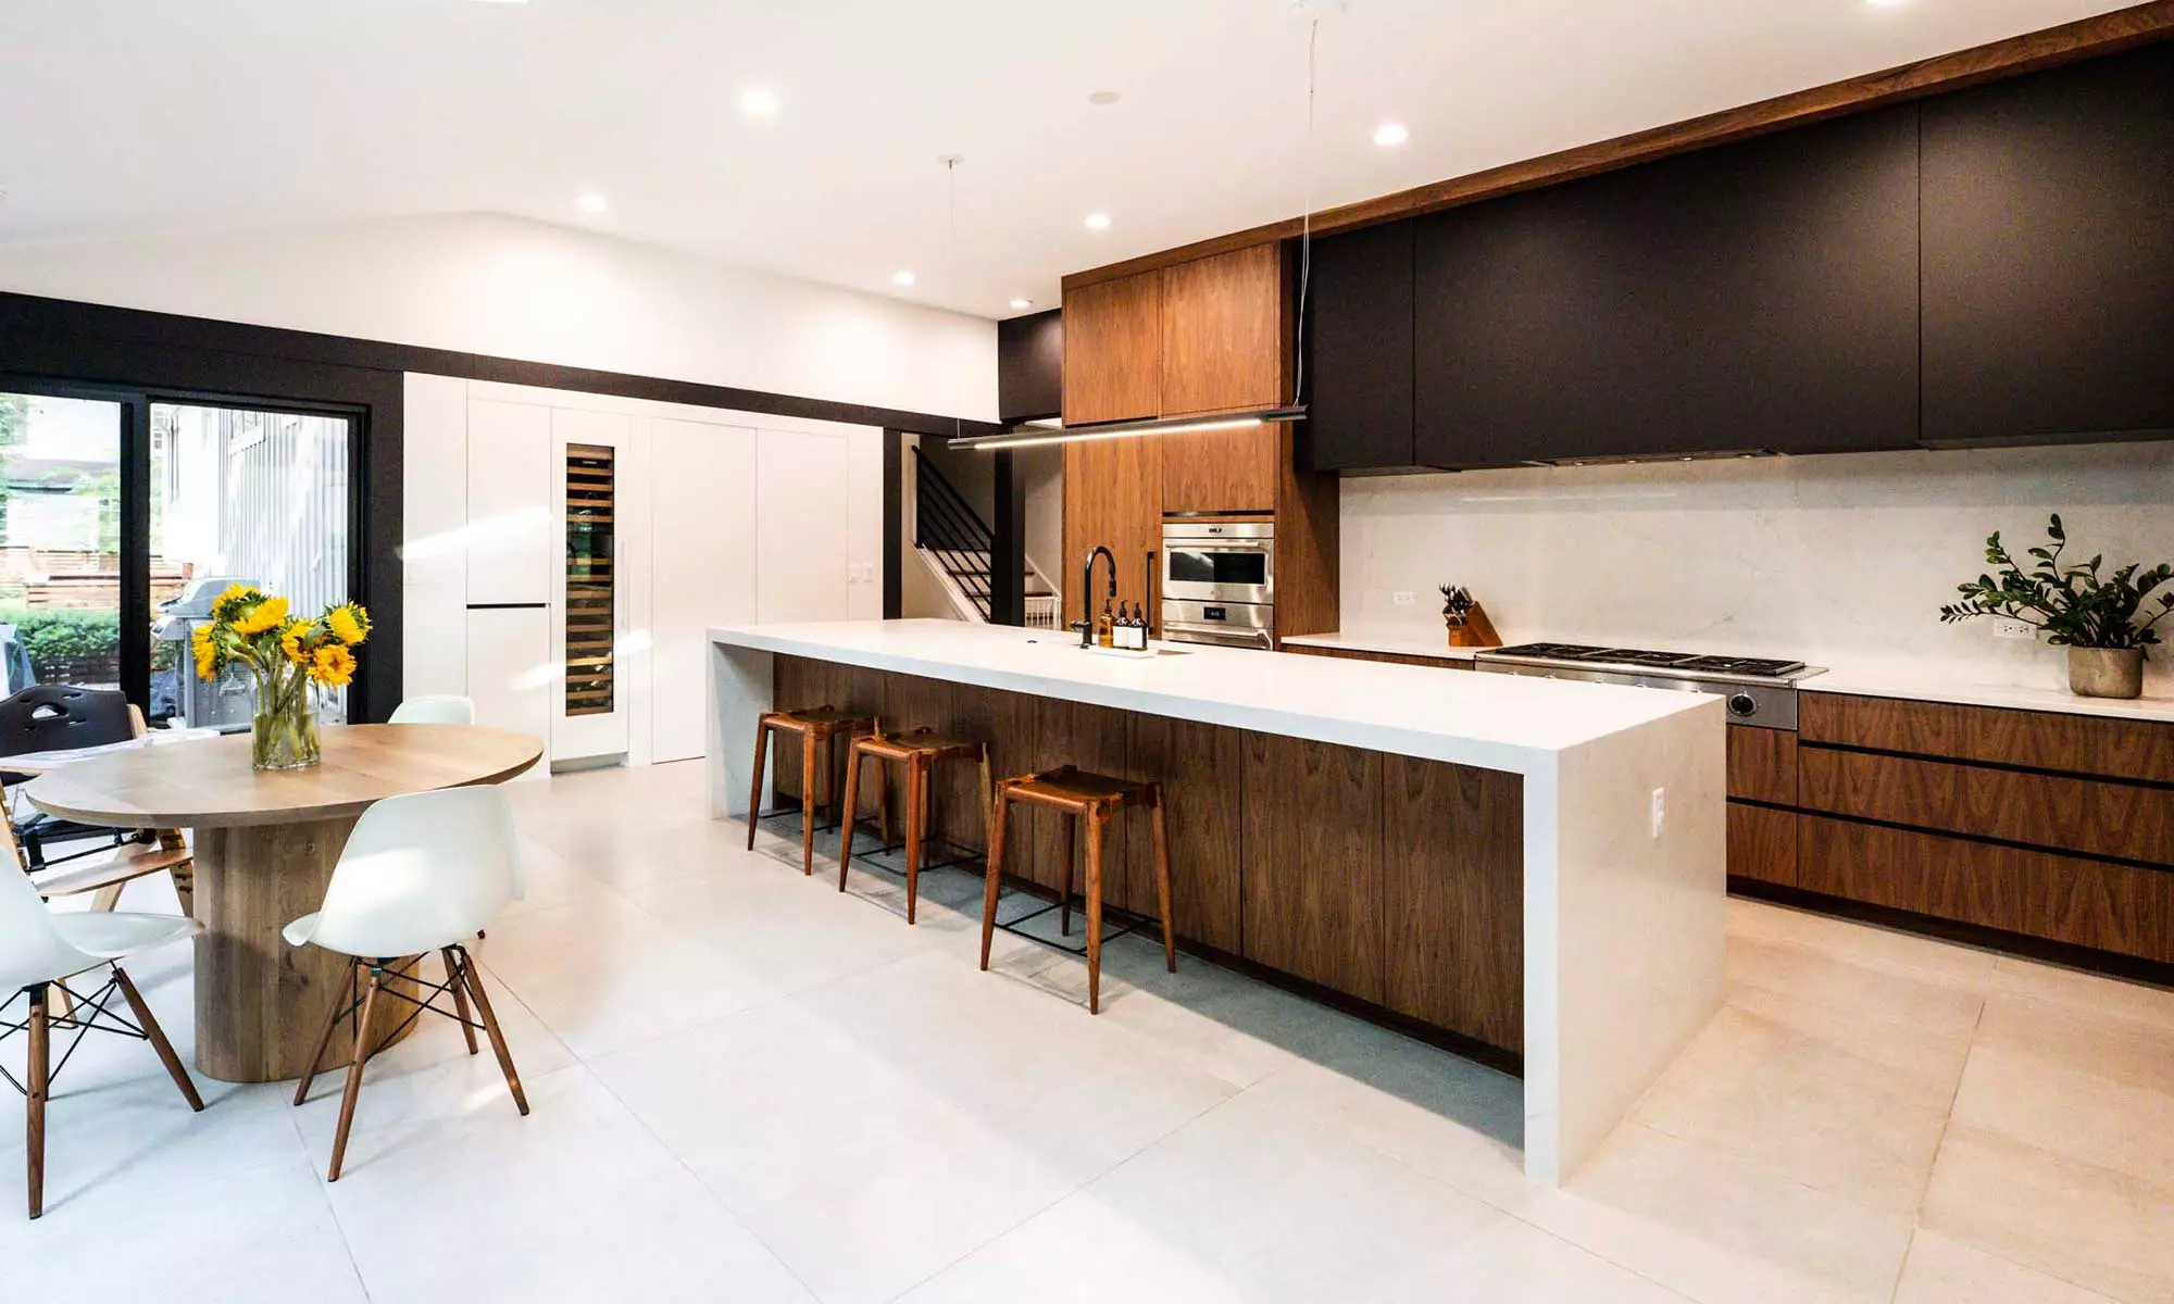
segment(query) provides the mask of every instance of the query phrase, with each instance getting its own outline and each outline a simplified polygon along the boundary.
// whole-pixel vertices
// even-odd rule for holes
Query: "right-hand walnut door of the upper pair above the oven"
[[[1165,417],[1289,400],[1280,243],[1163,267],[1161,311]]]

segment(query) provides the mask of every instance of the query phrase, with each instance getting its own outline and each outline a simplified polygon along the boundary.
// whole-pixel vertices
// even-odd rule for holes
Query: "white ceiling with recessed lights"
[[[1287,9],[13,0],[0,241],[504,211],[1002,317],[1013,296],[1054,304],[1065,272],[1300,211],[1307,20]],[[1350,0],[1320,26],[1311,193],[1378,196],[2109,9]],[[780,100],[770,122],[739,111],[757,85]],[[1389,120],[1411,128],[1396,150],[1370,139]],[[941,154],[965,156],[954,259]],[[576,211],[591,189],[609,213]]]

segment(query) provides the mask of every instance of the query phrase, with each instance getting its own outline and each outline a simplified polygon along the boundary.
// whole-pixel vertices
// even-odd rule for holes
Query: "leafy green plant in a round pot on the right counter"
[[[1961,602],[1939,609],[1941,624],[1976,615],[2004,615],[2046,630],[2046,641],[2067,648],[2067,689],[2083,698],[2141,698],[2144,650],[2159,641],[2152,630],[2174,611],[2174,591],[2161,593],[2157,611],[2152,591],[2174,580],[2174,565],[2144,569],[2128,563],[2102,576],[2104,556],[2083,565],[2063,565],[2067,532],[2054,513],[2046,526],[2052,548],[2031,548],[2037,563],[2026,572],[2000,543],[2000,532],[1985,541],[1987,565],[2000,572],[1957,585]]]

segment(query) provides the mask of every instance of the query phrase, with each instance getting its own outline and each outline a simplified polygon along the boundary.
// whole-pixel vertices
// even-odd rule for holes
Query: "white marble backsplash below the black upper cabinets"
[[[1350,478],[1344,630],[1441,637],[1441,582],[1509,641],[1802,656],[1870,674],[2063,685],[2057,648],[1939,624],[2059,511],[2070,556],[2174,561],[2174,443],[1865,452]],[[1413,593],[1398,606],[1398,591]],[[2174,643],[2174,617],[2161,624]],[[2174,648],[2146,663],[2174,691]]]

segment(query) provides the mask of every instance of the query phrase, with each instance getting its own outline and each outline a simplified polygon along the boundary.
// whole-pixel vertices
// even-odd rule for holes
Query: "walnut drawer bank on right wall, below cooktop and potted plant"
[[[1813,691],[1728,795],[1737,891],[2174,980],[2174,722]]]

